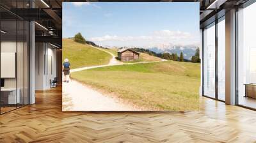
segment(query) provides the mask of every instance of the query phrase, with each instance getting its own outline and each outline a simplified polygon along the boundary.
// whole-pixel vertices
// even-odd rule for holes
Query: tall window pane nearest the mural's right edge
[[[215,98],[215,25],[204,29],[204,95]]]

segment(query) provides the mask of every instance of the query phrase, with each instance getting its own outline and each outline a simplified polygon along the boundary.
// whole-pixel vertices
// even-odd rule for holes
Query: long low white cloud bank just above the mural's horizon
[[[161,30],[153,31],[151,34],[141,36],[117,36],[107,34],[105,36],[89,38],[89,40],[102,46],[138,46],[144,48],[158,47],[160,49],[166,49],[173,45],[198,45],[199,35],[193,35],[183,31]]]

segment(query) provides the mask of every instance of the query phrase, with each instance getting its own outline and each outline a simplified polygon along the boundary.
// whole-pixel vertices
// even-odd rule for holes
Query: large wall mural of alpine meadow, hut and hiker
[[[63,3],[63,111],[198,110],[198,13],[199,3]]]

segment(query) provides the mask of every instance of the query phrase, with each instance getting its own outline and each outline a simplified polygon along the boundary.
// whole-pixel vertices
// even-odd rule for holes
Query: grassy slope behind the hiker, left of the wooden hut
[[[68,58],[70,68],[81,68],[83,66],[97,66],[108,64],[112,56],[102,50],[95,49],[87,44],[77,43],[72,39],[63,39],[63,60]]]

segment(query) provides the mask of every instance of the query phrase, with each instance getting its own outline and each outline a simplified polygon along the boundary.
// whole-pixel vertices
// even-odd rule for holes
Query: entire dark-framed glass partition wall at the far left
[[[0,1],[5,8],[29,8],[29,1]],[[29,104],[29,22],[0,8],[0,114]],[[4,14],[3,14],[4,13]]]

